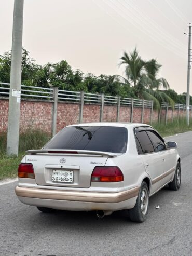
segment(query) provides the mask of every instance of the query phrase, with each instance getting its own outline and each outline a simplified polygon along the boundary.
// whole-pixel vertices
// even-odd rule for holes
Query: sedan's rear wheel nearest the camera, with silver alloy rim
[[[129,210],[129,218],[134,222],[144,222],[149,208],[149,191],[146,182],[142,182],[134,208]]]

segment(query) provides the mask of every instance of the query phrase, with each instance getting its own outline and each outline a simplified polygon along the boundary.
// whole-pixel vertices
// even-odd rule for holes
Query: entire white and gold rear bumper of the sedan
[[[133,208],[140,187],[117,193],[61,191],[16,187],[19,200],[27,205],[62,210],[121,210]]]

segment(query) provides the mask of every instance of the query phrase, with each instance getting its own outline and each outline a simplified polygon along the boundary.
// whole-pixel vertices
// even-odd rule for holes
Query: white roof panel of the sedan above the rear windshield
[[[73,126],[114,126],[114,127],[127,127],[127,128],[134,128],[134,127],[140,127],[140,126],[148,126],[147,124],[141,124],[141,123],[120,123],[120,122],[94,122],[94,123],[81,123],[81,124],[75,124],[75,125],[68,125],[67,127],[73,127]]]

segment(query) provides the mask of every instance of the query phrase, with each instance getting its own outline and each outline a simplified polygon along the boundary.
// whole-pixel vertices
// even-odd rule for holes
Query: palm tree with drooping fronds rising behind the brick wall
[[[161,65],[155,60],[144,61],[135,48],[129,54],[124,52],[120,65],[126,65],[124,83],[134,86],[139,98],[153,100],[154,107],[159,109],[162,102],[173,105],[174,101],[166,94],[169,84],[166,79],[158,78]],[[160,87],[166,90],[160,90]]]

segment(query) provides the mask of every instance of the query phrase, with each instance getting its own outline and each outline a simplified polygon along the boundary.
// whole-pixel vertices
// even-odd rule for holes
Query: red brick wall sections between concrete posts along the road
[[[0,133],[7,131],[8,124],[8,98],[0,98]],[[51,133],[52,125],[52,109],[53,102],[46,100],[21,100],[20,112],[20,132],[25,132],[28,129],[40,129],[46,133]],[[57,115],[57,131],[70,124],[79,122],[80,104],[77,103],[61,103],[58,102]],[[150,122],[150,109],[144,109],[143,123]],[[168,119],[178,116],[178,110],[168,111]],[[141,122],[142,109],[134,107],[133,122]],[[183,110],[179,111],[179,116],[186,113]],[[161,120],[165,119],[166,110],[161,110]],[[191,111],[190,111],[191,116]],[[131,107],[120,106],[119,122],[130,122]],[[100,120],[100,105],[84,104],[83,122],[99,122]],[[103,121],[116,122],[117,106],[104,105]],[[153,121],[158,121],[158,111],[153,111]]]

